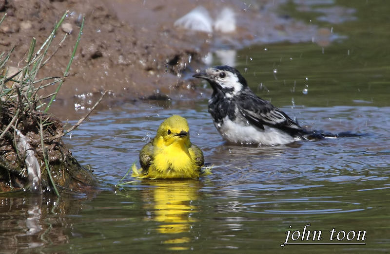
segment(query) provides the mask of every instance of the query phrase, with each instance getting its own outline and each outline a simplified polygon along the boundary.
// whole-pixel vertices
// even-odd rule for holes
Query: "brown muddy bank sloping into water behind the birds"
[[[63,120],[78,118],[74,113],[91,108],[98,94],[105,90],[112,91],[111,96],[103,101],[100,109],[138,99],[166,99],[166,95],[173,100],[197,98],[204,91],[186,77],[204,68],[202,58],[210,52],[236,50],[253,43],[310,41],[318,34],[318,28],[278,11],[284,0],[2,2],[0,14],[7,13],[7,18],[0,26],[0,51],[15,46],[9,61],[13,66],[20,64],[31,37],[43,42],[54,20],[65,10],[69,10],[69,15],[58,37],[70,32],[69,41],[77,39],[78,26],[85,15],[85,27],[70,76],[52,107],[52,112]],[[208,9],[212,18],[221,5],[230,7],[237,20],[236,30],[202,33],[174,27],[177,18],[198,5]],[[63,44],[50,66],[40,74],[58,75],[66,67],[72,50],[72,43]]]

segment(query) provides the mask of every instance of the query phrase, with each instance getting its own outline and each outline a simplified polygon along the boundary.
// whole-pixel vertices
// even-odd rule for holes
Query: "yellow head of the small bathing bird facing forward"
[[[165,119],[157,129],[157,137],[161,138],[165,145],[174,142],[189,143],[190,129],[187,120],[179,115],[173,115]]]

